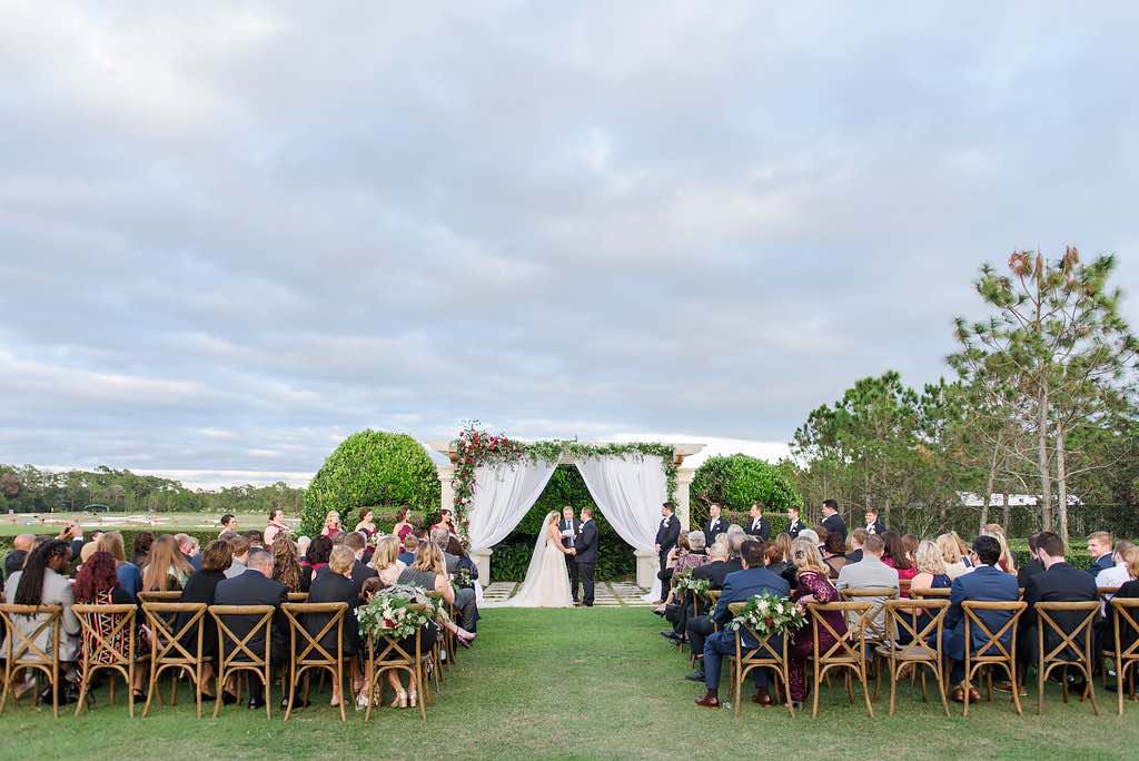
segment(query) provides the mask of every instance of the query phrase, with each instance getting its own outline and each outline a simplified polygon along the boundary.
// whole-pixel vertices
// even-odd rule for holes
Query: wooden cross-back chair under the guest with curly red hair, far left
[[[114,674],[126,682],[126,711],[134,718],[134,615],[138,606],[125,605],[72,605],[72,613],[79,619],[82,630],[83,650],[80,672],[79,702],[75,715],[83,712],[87,694],[91,690],[91,678],[99,671],[110,671],[110,702],[115,701]]]

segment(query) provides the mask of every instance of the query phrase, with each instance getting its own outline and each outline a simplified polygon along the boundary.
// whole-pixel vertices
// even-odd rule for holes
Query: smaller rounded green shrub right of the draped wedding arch
[[[800,502],[781,469],[747,455],[710,457],[696,468],[690,492],[693,525],[707,522],[711,502],[743,513],[752,502],[763,502],[771,510],[786,510]]]

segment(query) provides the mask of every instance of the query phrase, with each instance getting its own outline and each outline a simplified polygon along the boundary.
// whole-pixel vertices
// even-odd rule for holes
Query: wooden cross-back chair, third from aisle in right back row
[[[937,679],[941,705],[945,710],[945,715],[949,715],[949,699],[945,695],[945,657],[941,643],[948,611],[949,600],[943,599],[888,600],[886,603],[886,628],[890,632],[890,641],[879,645],[876,652],[883,661],[888,662],[890,715],[894,715],[898,680],[907,669],[923,671],[921,699],[927,699],[925,672],[920,669],[923,665],[928,666]],[[919,630],[917,622],[921,613],[929,615],[929,620]],[[900,645],[899,640],[903,638],[909,638],[909,644]]]

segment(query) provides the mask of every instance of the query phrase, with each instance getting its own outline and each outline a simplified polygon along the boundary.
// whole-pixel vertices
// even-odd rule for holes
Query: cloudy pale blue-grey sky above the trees
[[[0,0],[0,461],[778,453],[983,261],[1139,291],[1139,9],[960,6]]]

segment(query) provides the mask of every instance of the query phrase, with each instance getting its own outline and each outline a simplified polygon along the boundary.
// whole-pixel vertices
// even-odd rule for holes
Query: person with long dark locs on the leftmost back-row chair
[[[59,605],[63,607],[59,628],[59,660],[63,662],[74,662],[80,654],[80,624],[72,611],[74,598],[71,581],[67,579],[69,562],[71,542],[49,539],[31,551],[24,562],[24,567],[11,574],[5,586],[5,603],[8,605]],[[47,619],[46,613],[34,616],[14,615],[11,623],[24,637],[31,637]],[[44,628],[33,640],[35,647],[50,654],[51,637],[51,627]],[[5,653],[9,652],[9,646],[11,645],[6,641]],[[71,702],[73,697],[77,697],[77,689],[74,668],[68,666],[67,672],[68,685],[62,692],[65,699]],[[47,699],[51,701],[50,688],[47,690]]]

